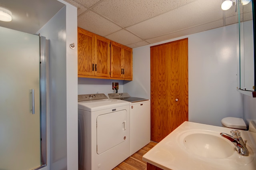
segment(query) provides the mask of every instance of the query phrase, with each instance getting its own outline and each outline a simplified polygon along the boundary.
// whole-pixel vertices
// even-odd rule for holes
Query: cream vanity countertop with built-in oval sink
[[[230,134],[230,128],[184,122],[142,160],[164,170],[255,170],[256,144],[249,131],[241,130],[248,140],[249,156],[242,156],[236,146],[221,132]]]

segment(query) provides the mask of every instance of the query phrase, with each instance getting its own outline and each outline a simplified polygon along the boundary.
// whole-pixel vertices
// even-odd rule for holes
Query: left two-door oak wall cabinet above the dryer
[[[110,40],[78,28],[78,77],[110,77],[109,73]]]

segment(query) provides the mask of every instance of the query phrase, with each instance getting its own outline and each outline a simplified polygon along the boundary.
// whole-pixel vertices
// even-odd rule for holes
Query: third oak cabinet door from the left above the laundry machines
[[[111,42],[111,77],[122,77],[122,46],[119,43]]]

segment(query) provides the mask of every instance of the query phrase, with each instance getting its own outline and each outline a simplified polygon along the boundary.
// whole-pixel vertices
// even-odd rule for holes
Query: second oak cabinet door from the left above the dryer
[[[95,76],[110,77],[110,40],[95,36]]]

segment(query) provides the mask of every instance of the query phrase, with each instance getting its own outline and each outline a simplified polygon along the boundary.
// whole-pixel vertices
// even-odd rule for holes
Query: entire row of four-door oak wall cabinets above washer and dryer
[[[132,80],[132,48],[78,28],[78,77]]]

